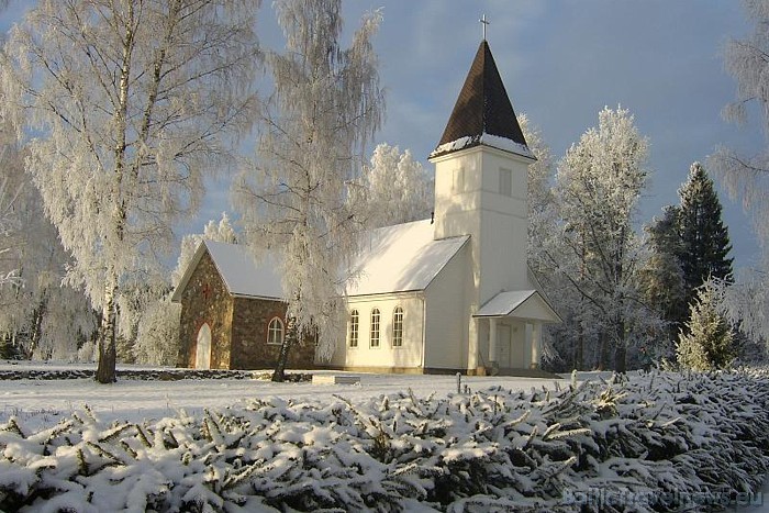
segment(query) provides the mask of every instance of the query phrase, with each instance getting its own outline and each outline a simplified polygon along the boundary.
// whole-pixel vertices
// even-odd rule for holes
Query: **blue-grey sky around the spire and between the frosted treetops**
[[[12,1],[2,15],[18,16]],[[470,62],[488,41],[517,113],[526,113],[560,158],[604,107],[622,104],[649,137],[651,185],[639,222],[677,203],[677,190],[694,160],[717,145],[756,153],[766,144],[758,116],[735,126],[721,119],[735,82],[723,70],[729,37],[750,30],[736,0],[346,0],[347,35],[366,11],[383,9],[375,40],[387,120],[375,143],[409,148],[426,160],[437,144]],[[264,1],[261,44],[282,46],[271,2]],[[200,220],[231,210],[225,183],[212,188]],[[721,194],[738,266],[757,255],[749,219]]]

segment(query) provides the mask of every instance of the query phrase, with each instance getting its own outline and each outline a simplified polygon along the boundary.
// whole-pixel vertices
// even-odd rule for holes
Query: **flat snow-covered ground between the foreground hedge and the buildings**
[[[93,369],[93,366],[0,361],[0,370],[18,369],[69,370]],[[454,376],[367,373],[355,373],[355,376],[360,376],[359,384],[274,383],[243,379],[164,382],[121,379],[113,384],[99,384],[91,379],[0,380],[0,423],[7,422],[11,415],[16,415],[30,427],[48,427],[59,422],[63,415],[71,414],[83,405],[88,405],[105,421],[143,422],[175,415],[179,410],[185,410],[189,415],[197,415],[204,409],[221,410],[226,406],[244,405],[255,398],[278,397],[294,401],[327,401],[337,394],[352,401],[359,401],[382,394],[406,392],[409,389],[421,397],[433,392],[445,397],[457,391],[457,379]],[[591,372],[584,373],[583,378],[595,379],[598,376]],[[604,372],[603,376],[609,377],[611,373]],[[471,390],[481,390],[491,386],[530,390],[533,387],[553,388],[555,380],[464,376],[462,390],[465,386]]]

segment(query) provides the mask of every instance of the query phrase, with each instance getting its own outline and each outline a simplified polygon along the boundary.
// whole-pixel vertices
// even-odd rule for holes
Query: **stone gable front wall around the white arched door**
[[[194,368],[198,332],[211,327],[211,368],[229,369],[233,300],[208,250],[181,294],[179,367]]]

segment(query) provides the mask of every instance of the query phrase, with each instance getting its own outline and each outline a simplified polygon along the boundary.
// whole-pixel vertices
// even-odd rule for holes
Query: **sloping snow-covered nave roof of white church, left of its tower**
[[[470,238],[433,238],[430,220],[397,224],[366,234],[364,250],[354,260],[357,279],[347,285],[348,295],[424,290]]]

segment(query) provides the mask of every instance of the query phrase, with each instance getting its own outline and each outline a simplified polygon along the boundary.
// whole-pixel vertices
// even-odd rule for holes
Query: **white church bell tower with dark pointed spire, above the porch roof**
[[[534,160],[484,40],[430,155],[434,237],[470,235],[473,310],[501,291],[531,288],[527,168]]]

